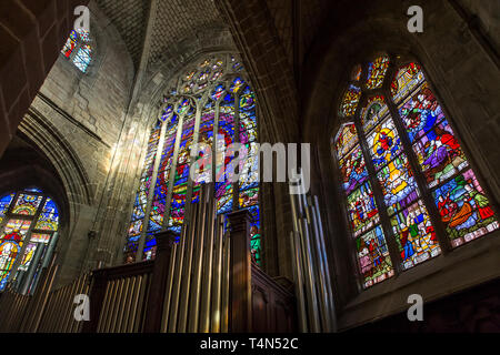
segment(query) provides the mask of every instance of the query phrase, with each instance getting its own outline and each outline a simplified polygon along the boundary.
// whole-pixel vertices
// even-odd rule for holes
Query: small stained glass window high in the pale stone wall
[[[90,33],[78,29],[71,31],[61,53],[84,73],[92,60],[92,49]]]

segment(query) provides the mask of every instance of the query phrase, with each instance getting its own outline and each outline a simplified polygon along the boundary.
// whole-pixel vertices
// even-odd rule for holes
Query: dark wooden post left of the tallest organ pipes
[[[144,333],[159,333],[161,328],[167,278],[170,272],[170,257],[176,235],[171,231],[164,231],[158,233],[156,239],[157,257],[154,258],[151,288],[146,305]]]

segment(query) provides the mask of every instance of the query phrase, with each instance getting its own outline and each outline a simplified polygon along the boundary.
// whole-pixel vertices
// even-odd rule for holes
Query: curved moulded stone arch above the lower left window
[[[72,149],[59,130],[31,108],[19,126],[18,135],[31,145],[27,162],[19,166],[29,172],[30,181],[53,196],[61,210],[61,239],[56,262],[62,265],[59,281],[71,280],[79,273],[84,257],[88,227],[82,220],[92,214],[96,187]],[[16,158],[18,154],[16,153]],[[34,162],[33,159],[37,159]],[[27,181],[28,183],[28,181]],[[68,262],[71,260],[71,263]]]

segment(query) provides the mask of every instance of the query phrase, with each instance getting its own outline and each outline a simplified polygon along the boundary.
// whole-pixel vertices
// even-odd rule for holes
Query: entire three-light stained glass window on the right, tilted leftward
[[[364,287],[499,229],[422,68],[397,61],[354,67],[332,140]]]

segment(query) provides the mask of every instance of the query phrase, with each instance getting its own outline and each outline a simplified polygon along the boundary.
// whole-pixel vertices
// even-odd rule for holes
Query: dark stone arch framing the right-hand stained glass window
[[[323,219],[329,235],[327,247],[329,254],[333,256],[331,268],[334,271],[332,274],[336,274],[334,282],[338,290],[336,297],[340,308],[352,302],[360,291],[353,281],[353,275],[357,273],[356,261],[347,243],[349,237],[347,217],[340,206],[343,197],[336,184],[338,169],[331,156],[330,139],[334,136],[340,125],[340,122],[337,121],[337,110],[348,82],[348,75],[360,61],[366,62],[377,52],[386,51],[389,54],[400,55],[402,60],[414,60],[423,67],[426,77],[434,87],[443,109],[449,113],[453,129],[469,153],[468,156],[473,166],[476,165],[476,171],[483,176],[481,184],[490,192],[492,203],[498,206],[500,178],[498,156],[493,153],[488,160],[484,159],[486,152],[491,151],[494,132],[497,134],[499,132],[498,124],[492,123],[488,114],[490,111],[494,112],[494,109],[499,106],[498,100],[496,101],[494,94],[492,94],[494,92],[492,85],[484,83],[488,82],[484,78],[498,74],[494,63],[489,60],[480,44],[473,41],[459,14],[448,3],[432,2],[426,9],[428,16],[437,17],[439,14],[440,17],[439,21],[429,21],[434,23],[434,28],[426,29],[432,33],[429,36],[409,33],[406,11],[401,11],[401,13],[394,12],[393,9],[390,11],[391,9],[388,8],[390,4],[396,6],[396,1],[388,1],[388,4],[368,4],[368,9],[362,11],[359,18],[347,16],[342,20],[339,19],[339,14],[338,21],[332,20],[321,29],[323,34],[317,39],[304,68],[303,77],[308,80],[303,83],[302,92],[309,94],[304,97],[302,113],[303,139],[317,142],[312,156],[312,190],[320,196],[322,211],[327,216]],[[404,6],[406,3],[402,4],[402,10],[404,10]],[[346,11],[346,13],[359,14],[357,11]],[[458,53],[462,55],[457,58]],[[482,62],[483,65],[478,65],[479,62]],[[459,83],[453,78],[454,75],[483,79]],[[486,88],[490,92],[487,93]],[[478,99],[479,93],[484,95]],[[487,126],[491,130],[491,134],[483,133],[482,129],[480,131],[471,125],[467,119],[470,116],[468,111],[471,106],[477,109],[473,115],[476,120],[481,121],[481,124],[477,125]],[[484,134],[487,139],[483,139],[481,134]],[[493,239],[494,234],[484,244],[494,244]],[[478,244],[478,246],[471,247],[482,250],[483,245]],[[490,257],[488,253],[484,253],[483,260],[488,260],[488,257]],[[453,260],[453,257],[449,260]],[[413,275],[412,282],[417,282],[418,277],[423,275],[421,271],[416,271],[414,274],[420,274],[420,276]],[[423,283],[422,280],[419,282]],[[397,291],[382,288],[383,286],[372,293],[372,295],[377,293],[380,302],[383,302],[384,294],[394,292],[391,294],[394,296],[397,293]],[[422,290],[426,288],[423,286]],[[427,290],[427,292],[432,294],[437,291]],[[368,298],[369,296],[364,296],[367,307],[369,306]],[[374,304],[371,306],[374,307]],[[360,306],[361,308],[363,307]],[[367,311],[367,308],[363,310]],[[370,312],[367,311],[367,314]],[[384,312],[387,314],[391,311]],[[378,316],[381,316],[382,313],[379,312]],[[362,315],[362,317],[364,316]]]

